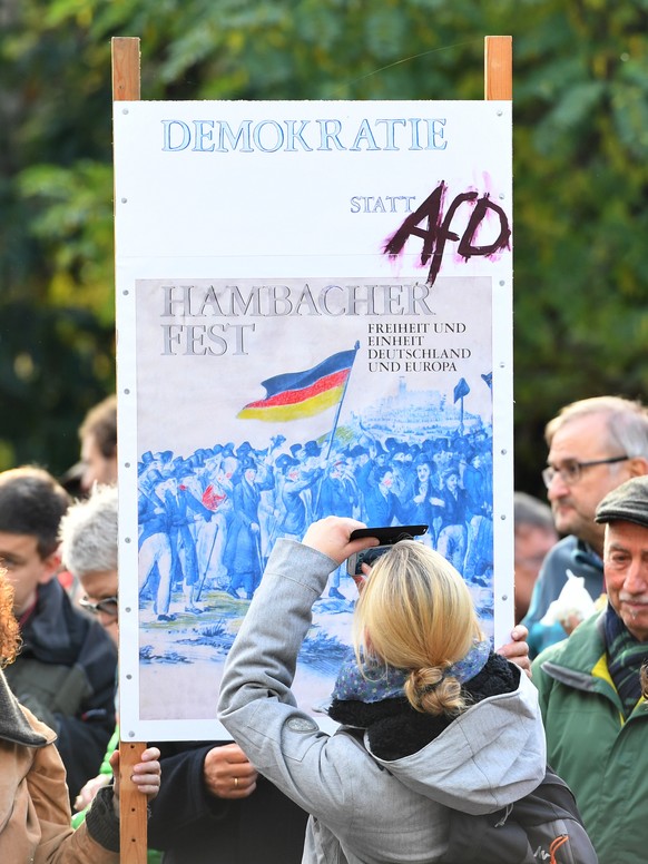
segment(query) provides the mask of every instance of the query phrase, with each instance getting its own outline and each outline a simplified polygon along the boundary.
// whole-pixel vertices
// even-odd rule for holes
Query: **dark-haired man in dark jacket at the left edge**
[[[69,505],[47,471],[0,473],[0,567],[13,587],[21,648],[4,676],[57,737],[70,798],[94,777],[115,729],[117,648],[57,579],[60,520]]]

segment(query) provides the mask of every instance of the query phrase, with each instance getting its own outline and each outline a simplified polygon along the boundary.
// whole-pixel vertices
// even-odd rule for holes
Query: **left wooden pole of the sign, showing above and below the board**
[[[140,92],[139,39],[115,37],[112,49],[112,100],[136,101]],[[147,807],[130,779],[132,766],[140,762],[146,744],[141,742],[119,743],[119,844],[122,864],[146,864],[147,858]]]

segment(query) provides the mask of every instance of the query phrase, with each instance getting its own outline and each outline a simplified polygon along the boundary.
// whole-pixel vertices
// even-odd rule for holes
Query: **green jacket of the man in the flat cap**
[[[608,672],[602,616],[533,661],[547,760],[569,784],[601,864],[646,861],[648,703],[625,720]],[[648,655],[648,645],[646,646]]]

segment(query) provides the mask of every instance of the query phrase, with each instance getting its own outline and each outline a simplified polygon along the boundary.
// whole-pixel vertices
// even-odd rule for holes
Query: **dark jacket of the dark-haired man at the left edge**
[[[22,648],[4,674],[19,701],[58,735],[73,801],[97,775],[115,729],[117,648],[58,579],[38,587],[20,635]]]

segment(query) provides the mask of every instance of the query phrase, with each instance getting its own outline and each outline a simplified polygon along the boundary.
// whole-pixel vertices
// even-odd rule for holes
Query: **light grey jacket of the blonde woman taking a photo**
[[[448,813],[489,813],[544,775],[544,733],[527,676],[469,708],[405,758],[376,758],[341,728],[322,733],[291,693],[297,652],[336,563],[279,540],[225,665],[219,719],[253,765],[312,814],[303,862],[435,862]]]

